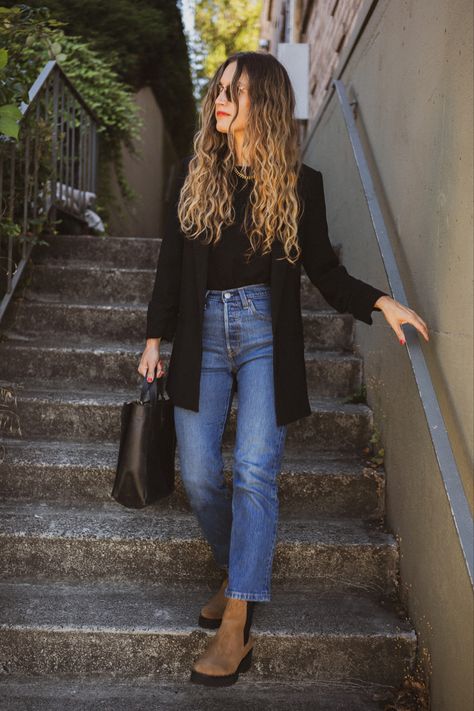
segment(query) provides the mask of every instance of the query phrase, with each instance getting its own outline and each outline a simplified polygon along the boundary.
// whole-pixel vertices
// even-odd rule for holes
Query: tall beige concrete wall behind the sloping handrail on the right
[[[331,3],[314,3],[320,13]],[[317,12],[317,8],[315,12]],[[466,493],[473,502],[473,10],[470,0],[361,3],[339,69],[361,133]],[[323,22],[319,27],[324,26]],[[320,37],[321,33],[319,33]],[[318,35],[308,27],[310,55]],[[314,46],[313,46],[314,43]],[[349,272],[390,291],[331,88],[304,160],[322,171],[333,243]],[[356,322],[385,447],[387,521],[434,711],[473,699],[473,596],[405,346],[383,314]],[[404,329],[412,329],[404,326]]]

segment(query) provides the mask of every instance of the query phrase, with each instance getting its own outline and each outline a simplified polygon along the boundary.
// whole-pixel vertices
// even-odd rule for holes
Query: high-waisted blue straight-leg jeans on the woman
[[[270,286],[207,290],[199,412],[174,407],[181,478],[227,597],[270,600],[278,486],[287,426],[277,426]],[[232,492],[222,435],[237,383]]]

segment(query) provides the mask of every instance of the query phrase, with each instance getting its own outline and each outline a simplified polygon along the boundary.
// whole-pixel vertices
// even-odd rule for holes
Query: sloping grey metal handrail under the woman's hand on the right
[[[340,79],[333,79],[333,84],[341,105],[390,289],[393,297],[397,301],[407,304],[408,300],[406,298],[405,289],[403,288],[400,271],[390,244],[385,220],[382,215],[382,210],[380,209],[372,176],[351,109],[351,103],[353,105],[356,102],[349,102],[346,89]],[[472,586],[474,583],[474,537],[473,518],[469,508],[469,502],[454,459],[441,408],[438,398],[436,397],[419,338],[417,338],[416,330],[407,329],[407,331],[405,331],[405,339],[408,357],[410,358],[413,375],[415,376],[415,381],[418,386],[418,393],[428,424],[435,456],[438,461],[441,478],[451,509],[451,515]]]

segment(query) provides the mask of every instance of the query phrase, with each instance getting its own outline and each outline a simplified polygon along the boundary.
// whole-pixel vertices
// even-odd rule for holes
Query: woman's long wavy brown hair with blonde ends
[[[237,62],[230,84],[236,108],[237,84],[245,70],[250,108],[243,151],[251,156],[252,190],[246,205],[244,229],[250,247],[246,257],[270,251],[279,239],[285,257],[294,264],[301,254],[298,221],[303,212],[297,182],[301,168],[295,96],[285,67],[266,52],[236,52],[217,69],[202,102],[194,153],[180,191],[178,219],[189,239],[210,244],[221,239],[222,227],[235,221],[232,193],[237,185],[235,142],[231,130],[216,128],[215,102],[222,74]]]

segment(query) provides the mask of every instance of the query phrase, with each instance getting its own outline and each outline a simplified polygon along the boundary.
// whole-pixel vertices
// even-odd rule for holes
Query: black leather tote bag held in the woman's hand
[[[174,491],[176,432],[165,378],[148,383],[145,377],[140,399],[122,405],[112,497],[129,508],[143,508]]]

